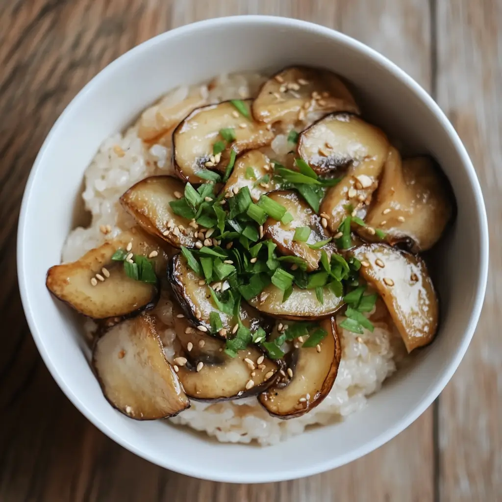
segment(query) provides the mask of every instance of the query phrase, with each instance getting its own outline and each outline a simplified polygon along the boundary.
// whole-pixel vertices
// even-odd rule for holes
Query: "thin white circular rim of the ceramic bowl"
[[[56,130],[61,126],[62,121],[67,115],[70,115],[73,108],[77,106],[82,101],[85,101],[87,94],[90,89],[96,85],[99,85],[102,80],[106,78],[108,74],[111,74],[115,68],[120,65],[128,64],[128,61],[135,56],[137,53],[148,51],[151,47],[157,44],[164,43],[166,40],[175,39],[181,34],[189,34],[200,28],[221,28],[223,24],[226,26],[228,23],[239,24],[245,23],[250,25],[268,25],[274,28],[277,27],[293,27],[296,29],[310,31],[318,33],[331,38],[339,44],[346,45],[349,48],[356,50],[359,53],[363,53],[368,56],[374,63],[383,67],[386,71],[392,74],[392,76],[405,86],[407,86],[428,108],[428,110],[435,116],[436,120],[439,122],[441,127],[445,130],[449,136],[454,148],[459,154],[462,165],[466,170],[470,189],[474,193],[476,200],[475,213],[477,218],[477,223],[479,225],[479,231],[481,234],[480,245],[480,274],[475,284],[475,300],[474,305],[470,314],[468,325],[466,326],[463,334],[462,343],[455,353],[454,357],[448,363],[447,368],[444,370],[442,378],[436,383],[429,391],[428,394],[418,402],[412,412],[407,416],[403,417],[397,423],[394,423],[388,427],[388,429],[379,436],[376,436],[371,441],[366,443],[364,446],[359,447],[351,452],[348,452],[343,459],[333,458],[328,461],[313,463],[305,468],[299,468],[290,471],[277,471],[272,473],[261,473],[249,475],[244,470],[239,473],[221,473],[216,471],[210,472],[208,469],[205,472],[198,472],[195,468],[190,465],[179,466],[176,463],[175,458],[157,458],[154,455],[142,451],[140,447],[137,447],[128,442],[127,439],[116,434],[112,429],[110,429],[106,423],[102,422],[97,416],[94,415],[92,409],[87,408],[79,399],[78,395],[68,387],[63,379],[63,377],[58,373],[56,367],[52,363],[50,351],[47,349],[44,343],[44,336],[38,330],[36,315],[28,302],[28,290],[30,289],[30,281],[25,274],[25,227],[27,220],[27,210],[28,210],[28,199],[30,194],[34,189],[35,174],[41,168],[42,160],[44,158],[45,151],[48,149],[49,144],[52,142],[52,138],[55,135]],[[342,34],[331,28],[327,28],[315,23],[308,21],[297,20],[292,18],[283,18],[275,16],[261,16],[261,15],[245,15],[245,16],[230,16],[230,17],[219,17],[203,21],[198,21],[191,23],[179,28],[175,28],[159,34],[137,46],[130,49],[126,53],[119,56],[117,59],[109,63],[105,68],[103,68],[99,73],[97,73],[70,101],[70,103],[63,110],[61,115],[58,117],[56,122],[53,124],[49,134],[47,135],[36,159],[31,169],[28,181],[24,190],[24,195],[21,204],[21,212],[18,223],[18,238],[17,238],[17,266],[18,266],[18,283],[21,293],[21,300],[23,304],[23,309],[25,312],[26,319],[28,321],[28,326],[32,333],[35,344],[46,364],[52,377],[65,393],[65,395],[70,399],[73,405],[101,432],[106,434],[108,437],[113,439],[116,443],[132,451],[136,455],[164,468],[176,471],[181,474],[188,476],[193,476],[196,478],[207,479],[212,481],[223,481],[223,482],[233,482],[233,483],[260,483],[260,482],[273,482],[273,481],[283,481],[289,479],[295,479],[298,477],[309,476],[318,474],[320,472],[325,472],[330,469],[334,469],[345,463],[351,462],[376,448],[379,448],[389,440],[393,439],[404,429],[406,429],[410,424],[412,424],[422,413],[432,404],[432,402],[438,397],[438,395],[445,388],[447,383],[450,381],[453,373],[460,364],[467,347],[472,339],[474,330],[476,328],[479,316],[481,313],[481,308],[484,301],[484,295],[486,291],[486,283],[488,276],[488,223],[486,217],[486,209],[484,205],[483,195],[481,192],[481,187],[478,178],[475,174],[474,167],[469,158],[469,155],[454,130],[452,124],[446,117],[445,113],[441,110],[439,105],[432,99],[432,97],[404,70],[398,67],[395,63],[390,61],[388,58],[380,54],[374,49],[371,49],[367,45],[359,42],[345,34]]]

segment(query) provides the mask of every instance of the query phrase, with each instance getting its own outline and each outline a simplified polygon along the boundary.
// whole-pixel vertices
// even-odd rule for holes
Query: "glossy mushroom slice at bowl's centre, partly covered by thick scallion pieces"
[[[328,254],[328,258],[334,251],[334,245],[329,243],[322,249],[311,249],[308,244],[315,244],[330,237],[321,223],[322,218],[318,216],[305,200],[293,190],[278,190],[269,194],[269,198],[283,205],[293,216],[290,223],[281,223],[273,218],[269,218],[263,225],[266,238],[272,239],[285,255],[293,255],[302,258],[307,262],[309,272],[316,270],[321,259],[322,249]],[[326,222],[324,222],[326,224]],[[294,240],[295,229],[298,227],[308,227],[311,232],[307,241]]]

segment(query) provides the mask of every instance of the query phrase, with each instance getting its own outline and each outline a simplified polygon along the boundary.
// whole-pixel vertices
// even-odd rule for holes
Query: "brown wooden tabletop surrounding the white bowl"
[[[16,277],[19,206],[59,113],[120,54],[170,28],[234,14],[313,21],[381,51],[445,110],[479,176],[491,268],[472,344],[434,405],[377,451],[296,481],[231,485],[164,470],[99,432],[59,390]],[[1,501],[502,500],[502,2],[500,0],[0,0]],[[499,220],[498,220],[499,221]],[[43,222],[41,222],[43,224]]]

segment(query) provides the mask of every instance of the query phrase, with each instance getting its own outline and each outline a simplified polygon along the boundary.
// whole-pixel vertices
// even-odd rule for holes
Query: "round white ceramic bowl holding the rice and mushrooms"
[[[451,180],[458,215],[443,244],[437,286],[442,322],[420,351],[342,423],[277,446],[220,444],[166,422],[136,422],[103,398],[68,308],[45,287],[71,229],[84,169],[100,143],[167,90],[213,75],[289,64],[325,66],[351,81],[365,116],[419,153],[430,153]],[[55,123],[31,172],[21,211],[18,271],[38,349],[73,404],[101,431],[136,454],[191,476],[233,482],[278,481],[345,464],[399,434],[433,402],[469,345],[485,291],[488,230],[469,157],[431,97],[385,57],[345,35],[284,18],[213,19],[172,30],[101,71]]]

